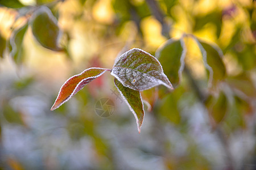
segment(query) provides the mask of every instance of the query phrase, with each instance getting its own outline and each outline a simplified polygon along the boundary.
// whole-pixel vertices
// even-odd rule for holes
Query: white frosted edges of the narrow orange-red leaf
[[[69,95],[69,96],[67,97],[67,99],[65,99],[64,101],[62,101],[59,105],[55,106],[55,103],[56,103],[58,97],[60,96],[60,92],[61,92],[61,89],[63,88],[63,86],[64,86],[70,79],[72,79],[73,77],[75,77],[75,76],[80,76],[80,75],[84,74],[85,71],[87,71],[87,70],[89,70],[89,69],[99,69],[99,70],[105,70],[105,71],[103,71],[102,73],[100,73],[100,74],[98,74],[98,75],[96,75],[96,76],[89,76],[88,78],[82,79],[82,80],[76,85],[76,87],[75,87],[75,89],[73,90],[72,94]],[[83,80],[86,80],[86,79],[89,79],[89,78],[97,78],[97,77],[101,76],[102,74],[104,74],[106,71],[108,71],[108,69],[102,69],[102,68],[100,68],[100,67],[90,67],[89,69],[85,69],[84,71],[82,71],[82,73],[71,76],[69,79],[67,79],[67,80],[65,81],[65,83],[63,83],[63,85],[60,87],[59,94],[57,95],[56,100],[55,100],[55,102],[54,102],[53,105],[52,105],[51,111],[53,111],[53,110],[59,108],[61,105],[63,105],[64,103],[66,103],[69,99],[71,99],[71,97],[72,97],[73,95],[75,95],[75,91],[76,91],[77,88],[79,87],[80,83],[83,82]]]

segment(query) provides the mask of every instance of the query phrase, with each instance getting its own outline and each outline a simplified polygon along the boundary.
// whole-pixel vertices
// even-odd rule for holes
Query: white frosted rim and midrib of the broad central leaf
[[[146,54],[148,54],[150,57],[154,58],[154,59],[156,60],[156,62],[159,63],[160,68],[161,68],[161,71],[162,71],[162,76],[164,76],[164,78],[165,78],[165,79],[167,80],[167,82],[169,82],[170,84],[166,84],[166,83],[164,83],[162,80],[159,80],[159,79],[158,79],[158,80],[160,81],[160,83],[159,83],[159,84],[156,84],[155,86],[159,86],[160,84],[163,84],[164,86],[166,86],[167,88],[170,88],[171,90],[174,89],[174,87],[172,87],[172,84],[171,84],[170,80],[167,78],[166,74],[164,74],[164,72],[163,72],[163,67],[162,67],[161,63],[158,61],[158,59],[157,59],[156,57],[152,56],[150,53],[147,53],[147,52],[145,52],[144,50],[139,49],[139,48],[133,48],[133,49],[130,49],[130,50],[128,50],[127,52],[123,53],[121,56],[126,55],[126,54],[129,53],[131,50],[139,50],[139,51],[141,51],[141,52],[143,52],[143,53],[146,53]],[[119,56],[119,57],[121,57],[121,56]],[[119,58],[118,58],[118,59],[119,59]],[[123,82],[123,80],[120,79],[117,74],[114,74],[114,73],[113,73],[114,67],[119,67],[119,66],[115,66],[115,64],[117,63],[118,59],[115,61],[114,65],[113,65],[113,67],[112,67],[112,71],[111,71],[110,74],[113,75],[115,78],[117,78],[118,81],[121,82],[121,83],[123,84],[123,86],[125,86],[125,84],[124,84],[125,82]],[[127,67],[123,67],[123,68],[130,69],[130,68],[127,68]],[[131,70],[134,70],[134,69],[131,69]],[[134,70],[134,71],[138,71],[138,70]],[[138,72],[140,72],[140,71],[138,71]],[[140,72],[140,73],[142,73],[142,72]],[[147,73],[143,73],[143,74],[147,74]],[[147,74],[147,75],[148,75],[148,74]],[[148,76],[151,76],[151,75],[148,75]],[[151,77],[155,78],[154,76],[151,76]],[[143,90],[148,90],[148,89],[150,89],[150,88],[152,88],[152,87],[155,87],[155,86],[151,86],[151,87],[145,88],[145,89],[143,89]],[[130,88],[129,86],[125,86],[125,87]],[[131,88],[131,89],[138,91],[137,89],[134,89],[134,88]],[[143,91],[143,90],[141,90],[141,91]]]

